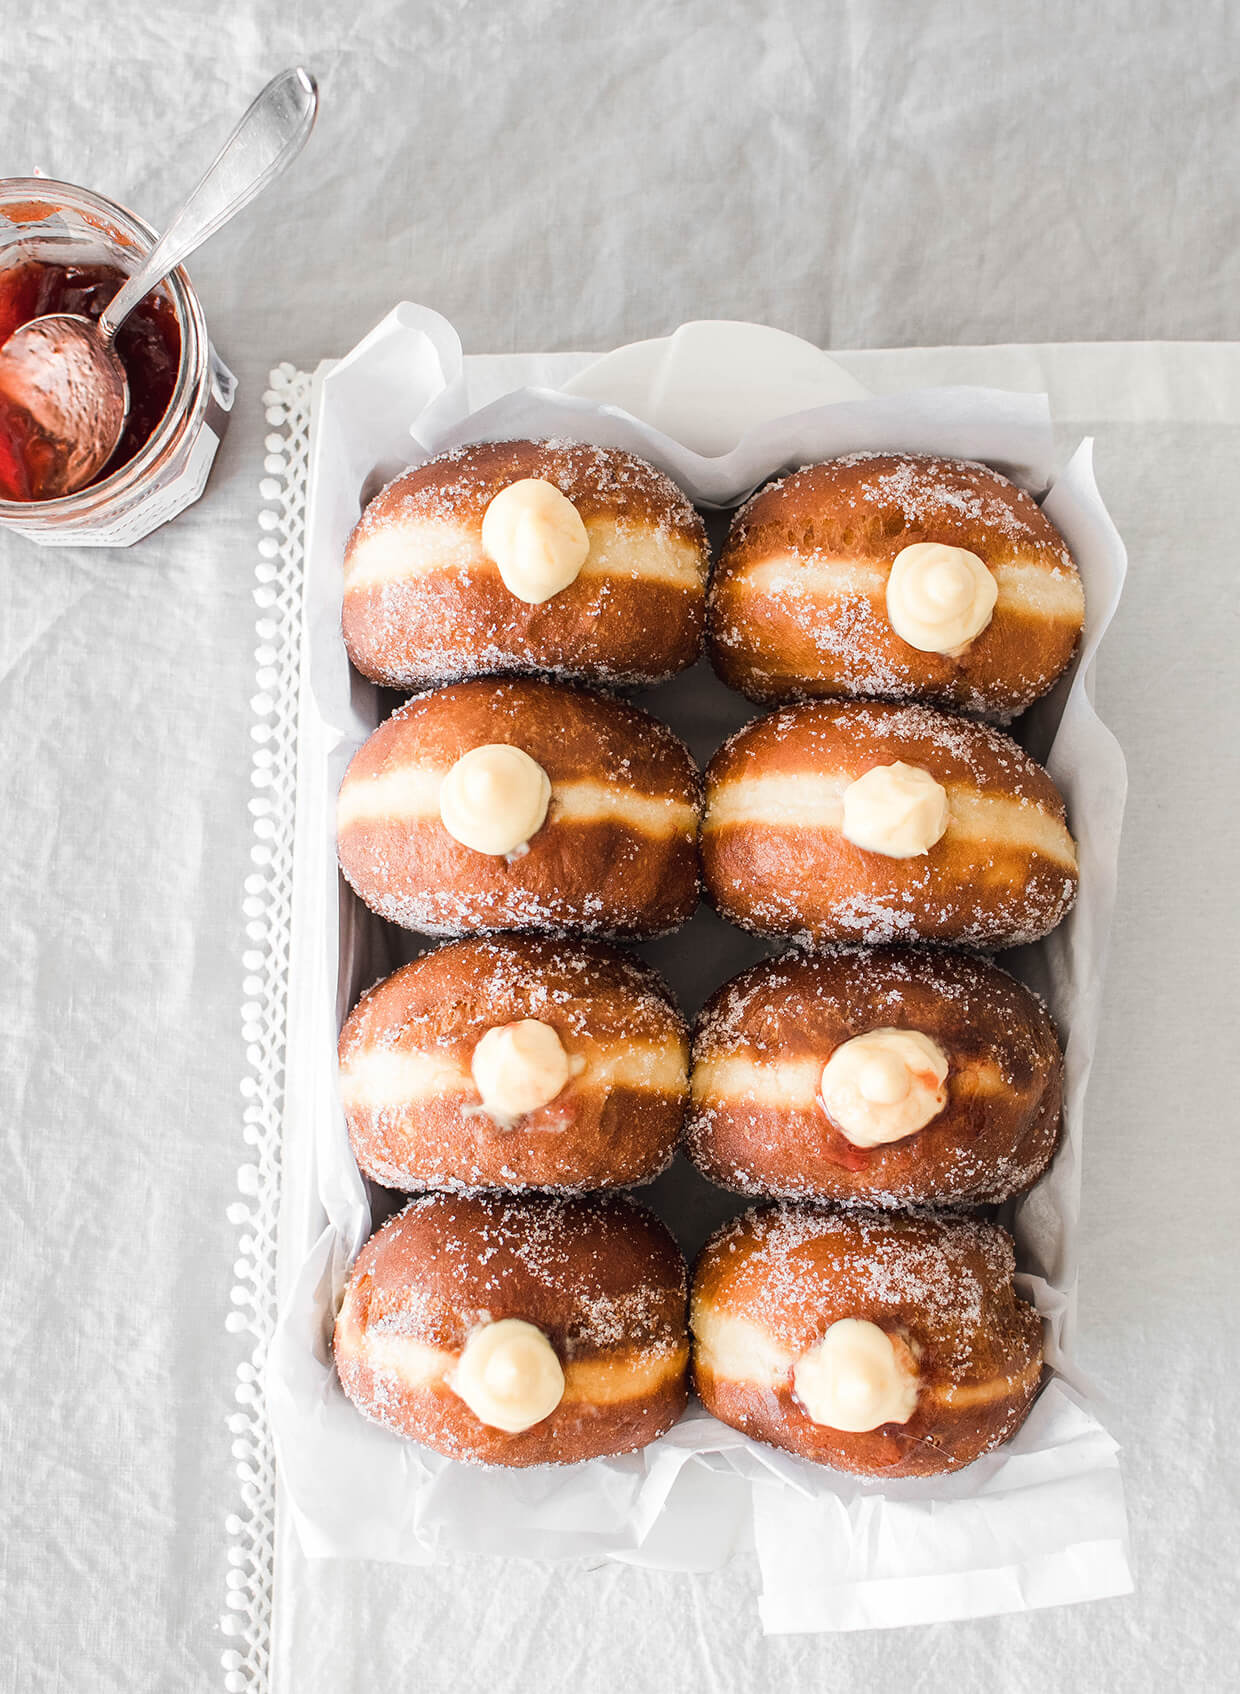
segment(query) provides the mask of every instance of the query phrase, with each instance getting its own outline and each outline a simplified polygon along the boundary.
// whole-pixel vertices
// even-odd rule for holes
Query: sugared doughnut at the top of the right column
[[[1081,576],[986,464],[854,452],[740,508],[710,591],[711,662],[776,703],[881,695],[1010,718],[1076,652]]]

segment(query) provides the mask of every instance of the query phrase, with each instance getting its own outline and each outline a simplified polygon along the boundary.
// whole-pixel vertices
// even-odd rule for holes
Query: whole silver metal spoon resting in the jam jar
[[[129,381],[113,347],[120,325],[144,295],[291,164],[317,110],[310,71],[281,71],[98,322],[53,312],[22,324],[0,347],[3,398],[29,413],[32,430],[51,447],[41,500],[85,488],[115,452],[129,413]]]

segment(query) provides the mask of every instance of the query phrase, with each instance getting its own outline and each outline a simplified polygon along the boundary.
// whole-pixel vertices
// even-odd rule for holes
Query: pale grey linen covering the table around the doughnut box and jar
[[[202,505],[141,547],[0,537],[5,1694],[220,1686],[222,1326],[241,1142],[251,569],[268,368],[400,296],[469,351],[605,347],[689,317],[837,347],[1238,332],[1235,14],[981,0],[583,7],[305,0],[7,8],[0,169],[154,222],[303,59],[295,173],[195,261],[241,378]],[[1235,1686],[1235,356],[1169,351],[1089,410],[1132,556],[1099,662],[1130,764],[1091,1088],[1081,1362],[1125,1442],[1138,1592],[893,1636],[762,1640],[710,1577],[307,1567],[296,1694],[771,1682]],[[871,373],[857,366],[864,379]],[[928,379],[1003,379],[984,354]],[[1021,376],[1038,379],[1030,352]],[[1210,1027],[1226,1016],[1216,1035]],[[293,1558],[288,1547],[285,1555]],[[290,1672],[293,1675],[293,1672]]]

